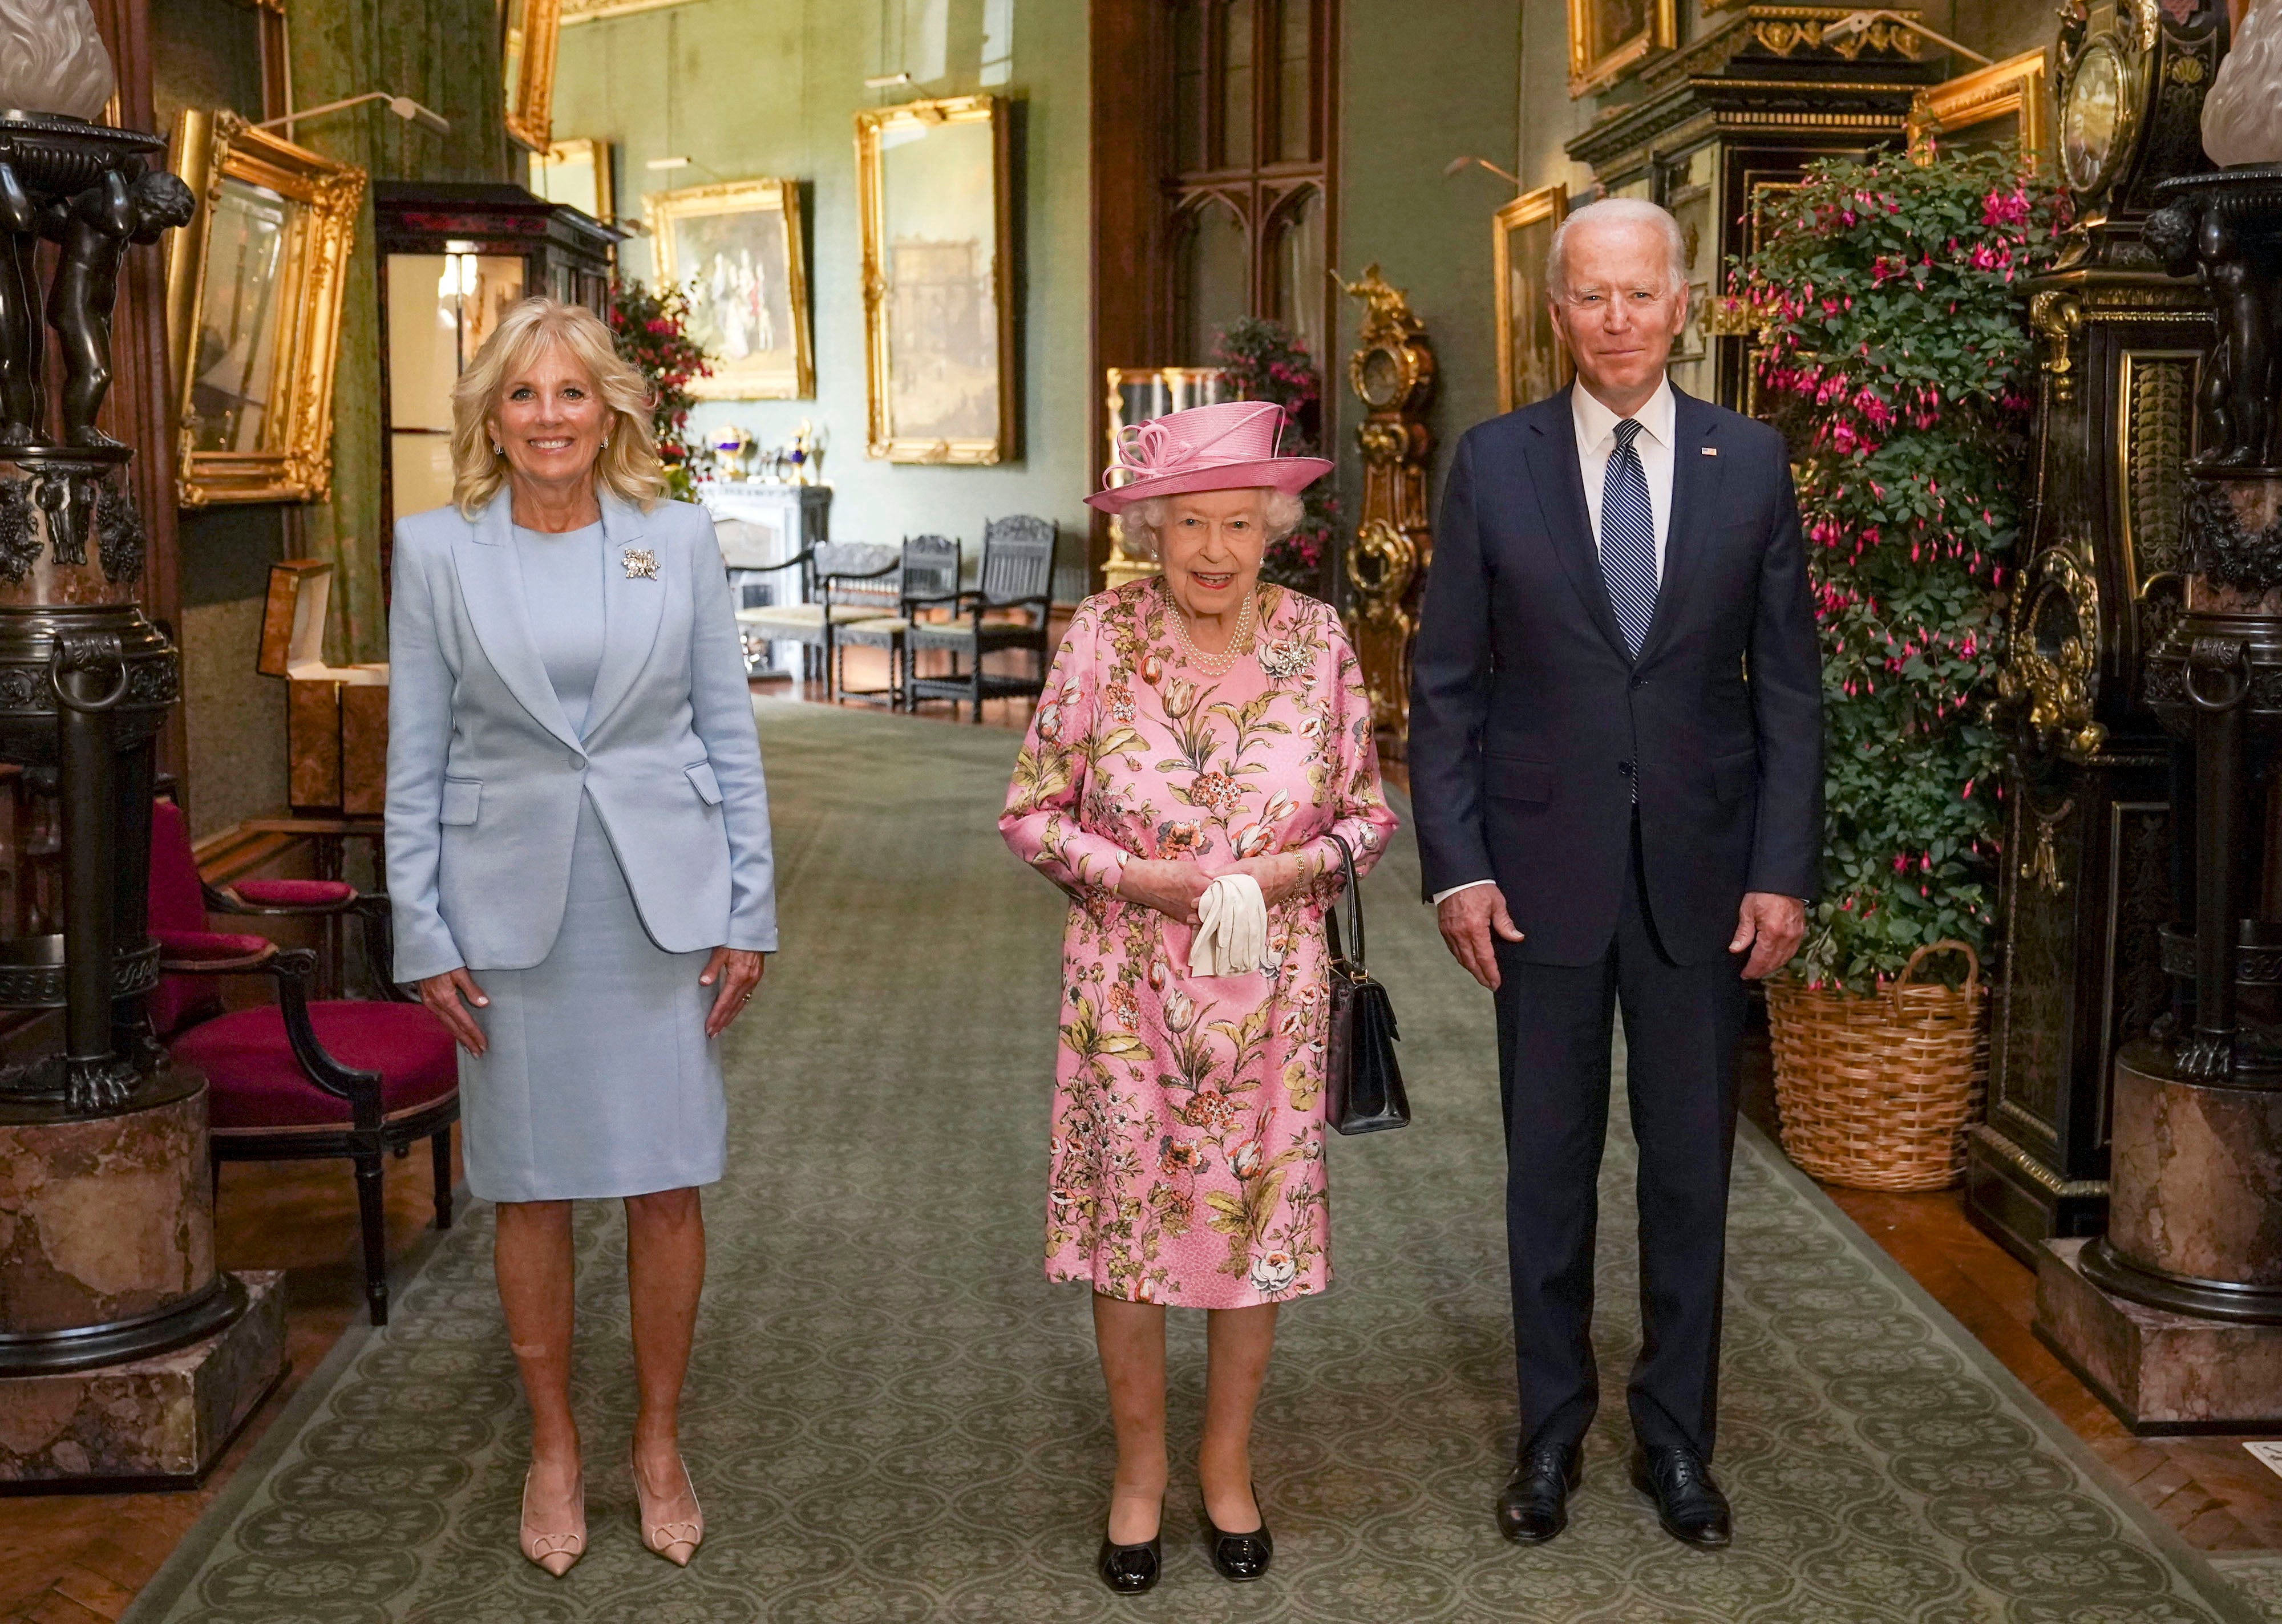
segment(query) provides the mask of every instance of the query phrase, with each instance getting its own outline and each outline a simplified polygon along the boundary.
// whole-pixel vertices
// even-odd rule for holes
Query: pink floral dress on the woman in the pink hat
[[[1333,611],[1260,588],[1255,652],[1184,664],[1164,586],[1079,604],[1000,830],[1070,894],[1045,1273],[1130,1302],[1235,1309],[1330,1284],[1324,908],[1337,833],[1362,871],[1394,833],[1371,700]],[[1267,965],[1196,976],[1193,928],[1118,899],[1127,858],[1298,851]]]

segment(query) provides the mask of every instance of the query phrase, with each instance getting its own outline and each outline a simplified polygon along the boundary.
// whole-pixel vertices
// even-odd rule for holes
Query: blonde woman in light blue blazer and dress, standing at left
[[[641,1540],[705,1524],[678,1410],[728,1113],[717,1038],[776,949],[728,575],[662,502],[650,395],[580,306],[509,310],[452,392],[452,506],[397,522],[388,894],[461,1045],[468,1186],[532,1403],[523,1553],[586,1551],[570,1202],[625,1200]]]

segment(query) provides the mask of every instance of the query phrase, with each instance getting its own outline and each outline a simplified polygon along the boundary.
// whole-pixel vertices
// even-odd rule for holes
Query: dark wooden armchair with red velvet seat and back
[[[313,999],[317,953],[208,928],[208,908],[267,917],[358,917],[386,999]],[[388,899],[335,880],[199,880],[189,826],[160,801],[151,814],[151,935],[164,976],[151,994],[160,1042],[208,1079],[215,1177],[224,1161],[347,1156],[365,1243],[365,1302],[388,1323],[383,1156],[429,1140],[436,1227],[452,1227],[452,1122],[459,1056],[443,1022],[386,983]],[[224,1010],[212,976],[269,976],[276,1004]],[[201,985],[208,983],[208,985]]]

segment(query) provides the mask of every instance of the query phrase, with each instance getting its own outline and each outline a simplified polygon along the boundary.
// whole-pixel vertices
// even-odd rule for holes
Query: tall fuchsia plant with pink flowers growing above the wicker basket
[[[1791,442],[1823,643],[1812,985],[1871,990],[1997,906],[1999,741],[1981,707],[2026,486],[2024,281],[2063,228],[2010,151],[1826,162],[1766,205],[1732,301]]]

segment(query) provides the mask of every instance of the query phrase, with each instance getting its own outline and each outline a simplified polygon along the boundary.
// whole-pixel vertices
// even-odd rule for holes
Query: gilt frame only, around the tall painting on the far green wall
[[[990,303],[997,315],[997,433],[990,438],[926,440],[901,433],[895,424],[890,381],[895,376],[888,333],[888,176],[883,153],[888,137],[924,132],[945,123],[988,123],[990,128],[990,212],[995,233],[995,274]],[[856,208],[863,221],[863,326],[865,374],[869,392],[872,456],[890,463],[997,463],[1018,454],[1015,367],[1013,367],[1013,212],[1009,196],[1006,103],[1000,96],[954,96],[949,100],[906,103],[901,107],[865,107],[856,114]]]

